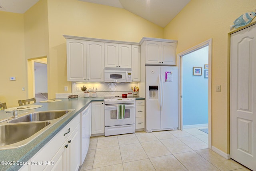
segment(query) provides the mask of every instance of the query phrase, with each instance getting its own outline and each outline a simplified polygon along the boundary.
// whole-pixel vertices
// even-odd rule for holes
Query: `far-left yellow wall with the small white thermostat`
[[[0,101],[7,107],[18,106],[26,98],[26,63],[23,14],[0,11]],[[16,77],[10,81],[9,77]]]

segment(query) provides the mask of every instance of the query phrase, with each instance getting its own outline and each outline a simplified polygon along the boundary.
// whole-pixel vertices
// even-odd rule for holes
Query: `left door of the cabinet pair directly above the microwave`
[[[104,43],[104,52],[105,67],[118,67],[118,44]]]

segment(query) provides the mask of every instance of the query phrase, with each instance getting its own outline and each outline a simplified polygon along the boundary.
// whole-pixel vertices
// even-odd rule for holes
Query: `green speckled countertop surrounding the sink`
[[[135,97],[136,100],[143,100],[143,97]],[[0,165],[0,171],[15,171],[20,167],[17,162],[26,162],[33,155],[35,155],[52,137],[54,137],[67,123],[69,123],[76,115],[78,115],[90,102],[103,101],[104,97],[90,97],[90,98],[76,98],[68,99],[63,98],[62,101],[50,102],[50,103],[33,103],[32,105],[42,105],[37,109],[18,111],[18,115],[24,112],[30,111],[48,111],[48,110],[63,110],[63,109],[75,109],[66,117],[58,121],[52,127],[44,131],[41,135],[30,141],[28,144],[14,148],[14,149],[2,149],[0,150],[0,162],[12,161],[15,165]],[[12,117],[12,113],[6,113],[6,111],[0,111],[0,120],[8,117]]]

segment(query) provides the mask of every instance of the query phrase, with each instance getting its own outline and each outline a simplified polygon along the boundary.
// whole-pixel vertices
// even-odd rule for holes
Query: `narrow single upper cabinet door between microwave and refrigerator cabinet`
[[[140,82],[140,46],[132,45],[132,81]]]

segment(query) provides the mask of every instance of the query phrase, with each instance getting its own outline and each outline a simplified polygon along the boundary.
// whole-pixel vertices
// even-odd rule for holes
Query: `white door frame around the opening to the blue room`
[[[212,82],[211,82],[211,69],[212,69],[212,39],[208,39],[192,48],[189,48],[188,50],[185,50],[177,55],[177,65],[178,65],[178,96],[180,97],[180,100],[178,101],[179,105],[179,129],[183,129],[183,112],[182,112],[182,56],[189,54],[191,52],[194,52],[198,49],[201,49],[205,46],[208,46],[208,147],[209,149],[212,149],[212,126],[211,126],[211,92],[212,92]]]

